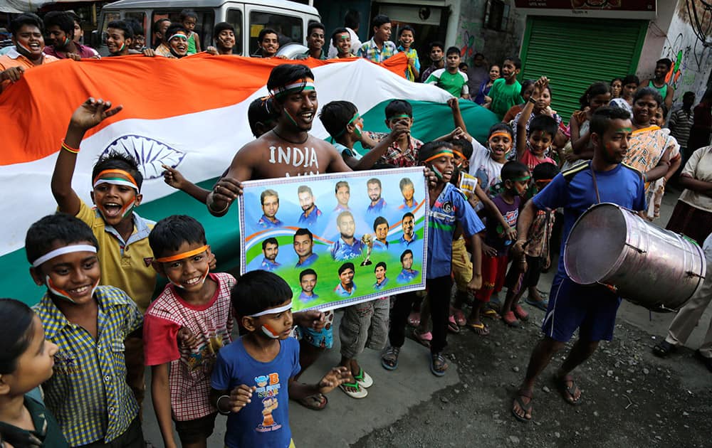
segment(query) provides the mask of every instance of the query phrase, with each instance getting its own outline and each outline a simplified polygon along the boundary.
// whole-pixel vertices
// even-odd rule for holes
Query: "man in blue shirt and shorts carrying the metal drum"
[[[596,110],[590,121],[594,147],[592,161],[557,174],[543,191],[526,203],[519,215],[518,240],[513,246],[515,253],[522,252],[538,210],[564,209],[562,238],[565,241],[577,218],[596,203],[614,203],[631,210],[646,209],[642,174],[621,163],[628,149],[631,128],[628,112],[614,107]],[[523,422],[532,418],[536,378],[576,329],[579,329],[579,338],[554,374],[562,397],[570,405],[579,405],[583,400],[571,371],[596,351],[599,341],[610,341],[613,337],[620,297],[607,287],[582,286],[567,277],[564,246],[561,245],[559,267],[551,285],[549,306],[542,325],[544,337],[532,351],[526,376],[512,407],[513,415]]]

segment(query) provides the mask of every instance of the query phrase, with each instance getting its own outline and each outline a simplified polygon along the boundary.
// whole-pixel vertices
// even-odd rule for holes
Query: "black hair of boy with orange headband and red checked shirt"
[[[148,235],[148,244],[155,258],[163,257],[167,252],[178,252],[184,242],[207,244],[205,229],[195,218],[188,215],[163,218]]]

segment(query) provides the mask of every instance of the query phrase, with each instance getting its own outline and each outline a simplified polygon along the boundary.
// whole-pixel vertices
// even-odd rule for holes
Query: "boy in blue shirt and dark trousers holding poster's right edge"
[[[450,291],[452,289],[452,235],[460,224],[464,235],[470,239],[473,253],[472,279],[467,285],[474,293],[482,286],[480,274],[481,243],[477,233],[484,229],[465,195],[450,183],[455,169],[452,145],[446,142],[429,142],[418,153],[421,164],[429,168],[436,176],[435,186],[429,186],[430,214],[428,218],[428,262],[426,284],[429,291],[430,314],[433,322],[433,339],[430,344],[430,371],[436,376],[445,375],[448,364],[442,356],[447,345],[447,326],[450,311]],[[405,252],[404,252],[405,255]],[[402,257],[403,260],[403,257]],[[435,296],[434,292],[440,292]],[[403,328],[410,312],[407,294],[395,298],[391,326]],[[402,333],[402,331],[399,331]],[[394,341],[391,341],[393,343]],[[384,368],[393,370],[398,363],[399,346],[387,348],[381,362]]]

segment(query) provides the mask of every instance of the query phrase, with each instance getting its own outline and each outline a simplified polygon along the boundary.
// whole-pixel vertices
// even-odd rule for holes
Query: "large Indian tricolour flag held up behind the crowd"
[[[357,105],[365,129],[387,131],[384,107],[394,99],[414,106],[412,134],[424,141],[454,127],[446,101],[433,85],[409,82],[407,59],[396,55],[382,65],[363,59],[299,61],[312,68],[320,105],[347,100]],[[70,116],[87,97],[101,97],[123,110],[88,132],[80,146],[73,187],[90,203],[90,173],[105,151],[126,151],[140,162],[144,201],[137,213],[152,220],[187,214],[206,228],[221,269],[236,267],[239,255],[236,210],[223,218],[204,204],[167,186],[162,164],[211,188],[241,146],[253,136],[247,108],[267,95],[266,81],[278,59],[193,55],[182,60],[132,55],[75,62],[62,60],[28,70],[0,95],[0,297],[33,304],[43,291],[28,274],[23,250],[26,230],[56,210],[50,179]],[[481,142],[496,122],[491,112],[461,101],[468,131]],[[314,135],[328,138],[318,119]],[[236,209],[236,208],[233,208]]]

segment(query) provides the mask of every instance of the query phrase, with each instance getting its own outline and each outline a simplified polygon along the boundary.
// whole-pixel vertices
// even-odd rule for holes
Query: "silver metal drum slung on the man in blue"
[[[600,203],[574,223],[564,267],[576,283],[604,284],[652,311],[676,311],[701,287],[706,261],[693,240]]]

